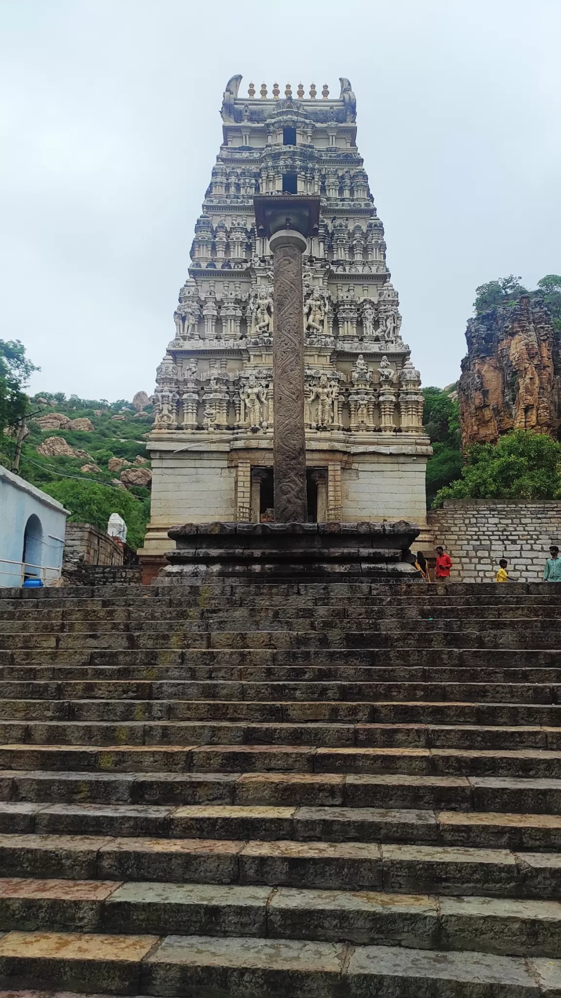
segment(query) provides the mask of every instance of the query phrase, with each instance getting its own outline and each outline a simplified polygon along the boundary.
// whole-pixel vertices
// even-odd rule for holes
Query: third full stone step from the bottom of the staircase
[[[561,899],[556,852],[431,843],[0,832],[6,877]]]

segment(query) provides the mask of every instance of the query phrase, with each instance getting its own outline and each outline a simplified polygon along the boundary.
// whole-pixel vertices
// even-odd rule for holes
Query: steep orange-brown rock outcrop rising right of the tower
[[[467,323],[458,383],[462,446],[495,443],[513,429],[557,437],[561,335],[543,299],[522,295]]]

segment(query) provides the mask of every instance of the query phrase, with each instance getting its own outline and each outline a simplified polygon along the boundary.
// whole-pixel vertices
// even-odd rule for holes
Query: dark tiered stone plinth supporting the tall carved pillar
[[[169,536],[177,544],[155,582],[191,583],[221,577],[252,581],[312,579],[415,582],[409,547],[419,528],[396,523],[187,523]]]

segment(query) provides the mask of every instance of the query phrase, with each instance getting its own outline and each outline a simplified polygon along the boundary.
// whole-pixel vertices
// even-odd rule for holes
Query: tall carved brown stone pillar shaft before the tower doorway
[[[277,523],[307,521],[301,280],[301,254],[306,245],[304,237],[290,229],[275,233],[270,240],[275,283],[273,446]]]

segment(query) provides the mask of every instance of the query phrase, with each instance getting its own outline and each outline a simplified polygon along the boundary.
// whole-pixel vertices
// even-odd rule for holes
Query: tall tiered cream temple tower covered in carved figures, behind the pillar
[[[383,226],[356,148],[356,102],[266,84],[226,88],[224,141],[195,227],[175,337],[158,367],[152,518],[156,570],[185,522],[273,516],[272,255],[254,196],[321,198],[303,255],[304,418],[310,520],[425,523],[420,376],[401,338]]]

